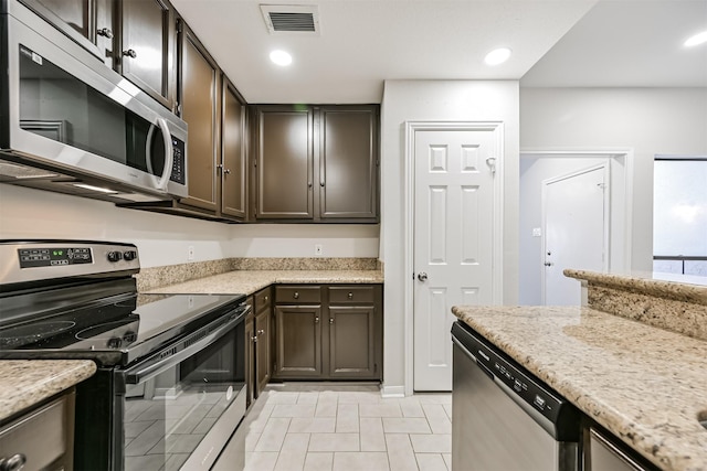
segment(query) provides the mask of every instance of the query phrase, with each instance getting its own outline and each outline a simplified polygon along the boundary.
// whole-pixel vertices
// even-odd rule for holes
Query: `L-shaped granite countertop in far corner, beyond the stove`
[[[382,283],[379,270],[235,270],[148,292],[186,295],[252,295],[273,283]]]

